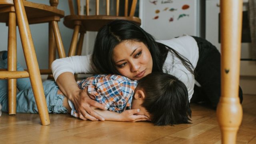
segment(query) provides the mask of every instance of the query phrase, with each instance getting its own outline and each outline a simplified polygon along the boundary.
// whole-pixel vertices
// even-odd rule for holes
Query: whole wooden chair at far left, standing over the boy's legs
[[[51,6],[36,4],[24,0],[0,0],[0,22],[8,26],[8,70],[0,72],[0,79],[8,80],[8,110],[9,114],[16,114],[16,78],[30,77],[38,113],[42,125],[50,124],[46,106],[42,80],[36,59],[31,33],[28,24],[49,22],[49,69],[55,59],[55,41],[60,57],[66,57],[60,37],[57,21],[64,17],[64,11],[58,10],[58,0],[50,0]],[[16,18],[22,41],[22,47],[28,72],[16,71]],[[51,73],[51,70],[43,70]]]

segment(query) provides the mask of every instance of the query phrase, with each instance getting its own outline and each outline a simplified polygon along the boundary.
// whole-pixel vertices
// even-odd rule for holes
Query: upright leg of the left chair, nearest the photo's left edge
[[[17,70],[17,42],[16,42],[16,15],[9,13],[8,26],[8,71]],[[16,114],[16,81],[8,79],[8,112]]]

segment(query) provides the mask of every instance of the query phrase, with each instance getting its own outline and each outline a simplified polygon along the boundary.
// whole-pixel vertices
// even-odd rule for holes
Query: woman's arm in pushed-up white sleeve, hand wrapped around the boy
[[[74,78],[74,73],[90,72],[90,59],[88,56],[72,56],[60,58],[52,63],[54,79],[60,90],[73,103],[79,118],[86,120],[104,120],[90,106],[105,109],[104,105],[91,100],[86,92],[80,90]]]

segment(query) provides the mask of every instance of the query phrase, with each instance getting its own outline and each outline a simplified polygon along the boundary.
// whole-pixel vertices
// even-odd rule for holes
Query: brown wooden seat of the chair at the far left
[[[12,0],[0,0],[0,4],[0,22],[5,22],[6,25],[8,25],[9,12],[15,11],[13,2]],[[38,24],[53,20],[60,21],[60,18],[64,17],[63,10],[58,10],[57,8],[45,4],[24,1],[24,7],[29,24]]]

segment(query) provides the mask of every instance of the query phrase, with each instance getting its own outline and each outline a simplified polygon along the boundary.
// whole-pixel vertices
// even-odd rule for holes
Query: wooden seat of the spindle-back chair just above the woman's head
[[[140,26],[141,20],[138,17],[125,17],[125,16],[106,16],[106,15],[98,15],[98,16],[80,16],[80,15],[69,15],[64,17],[64,25],[68,28],[74,29],[77,25],[77,22],[81,22],[80,32],[86,31],[98,31],[102,26],[107,24],[108,22],[116,19],[121,20],[129,20]]]

